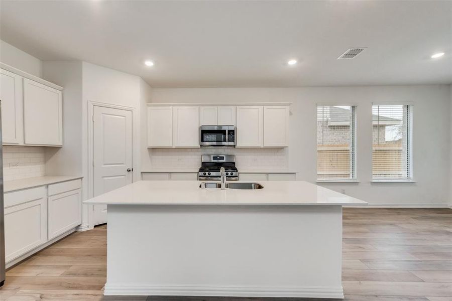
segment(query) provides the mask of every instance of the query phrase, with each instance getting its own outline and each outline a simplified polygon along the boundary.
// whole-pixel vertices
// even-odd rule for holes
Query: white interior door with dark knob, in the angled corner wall
[[[94,196],[132,183],[132,111],[94,106]],[[94,205],[94,225],[106,223]]]

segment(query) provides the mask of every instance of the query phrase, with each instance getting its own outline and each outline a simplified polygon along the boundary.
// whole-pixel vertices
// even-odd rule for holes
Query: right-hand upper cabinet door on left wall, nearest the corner
[[[61,91],[24,78],[25,144],[63,145]]]

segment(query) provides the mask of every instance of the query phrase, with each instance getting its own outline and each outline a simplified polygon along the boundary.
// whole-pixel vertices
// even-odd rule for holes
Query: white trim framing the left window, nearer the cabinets
[[[352,122],[350,124],[351,126],[351,130],[352,132],[352,155],[351,155],[351,165],[353,167],[353,169],[351,168],[352,171],[352,178],[347,178],[347,179],[319,179],[318,178],[318,165],[317,165],[317,158],[318,158],[318,144],[317,144],[317,130],[318,130],[318,122],[317,122],[317,113],[318,113],[318,107],[325,107],[325,106],[350,106],[352,108],[352,114],[351,117]],[[358,118],[357,118],[357,111],[358,109],[358,103],[357,102],[317,102],[315,104],[315,118],[316,118],[316,122],[315,122],[315,172],[316,172],[316,183],[360,183],[361,181],[358,179],[358,169],[357,169],[357,149],[358,149],[358,145],[357,145],[357,128],[358,128]]]

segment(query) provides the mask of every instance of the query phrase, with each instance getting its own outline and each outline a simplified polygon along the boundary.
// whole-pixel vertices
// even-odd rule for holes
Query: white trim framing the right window
[[[407,178],[374,178],[374,145],[371,144],[371,156],[372,156],[372,163],[371,163],[371,181],[372,184],[379,184],[379,183],[394,183],[394,184],[414,184],[416,181],[414,180],[413,176],[413,107],[414,102],[413,101],[378,101],[378,102],[372,102],[371,104],[371,110],[373,110],[374,106],[380,106],[380,105],[403,105],[408,107],[408,124],[407,124],[407,158],[408,158],[408,171],[407,171]],[[371,114],[372,111],[371,111]],[[373,119],[371,118],[371,128],[373,128]],[[373,135],[373,131],[372,131]],[[373,137],[372,137],[373,139]]]

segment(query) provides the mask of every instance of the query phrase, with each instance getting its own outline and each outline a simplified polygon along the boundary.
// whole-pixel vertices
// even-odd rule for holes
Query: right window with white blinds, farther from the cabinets
[[[411,180],[411,105],[372,106],[372,178]]]

